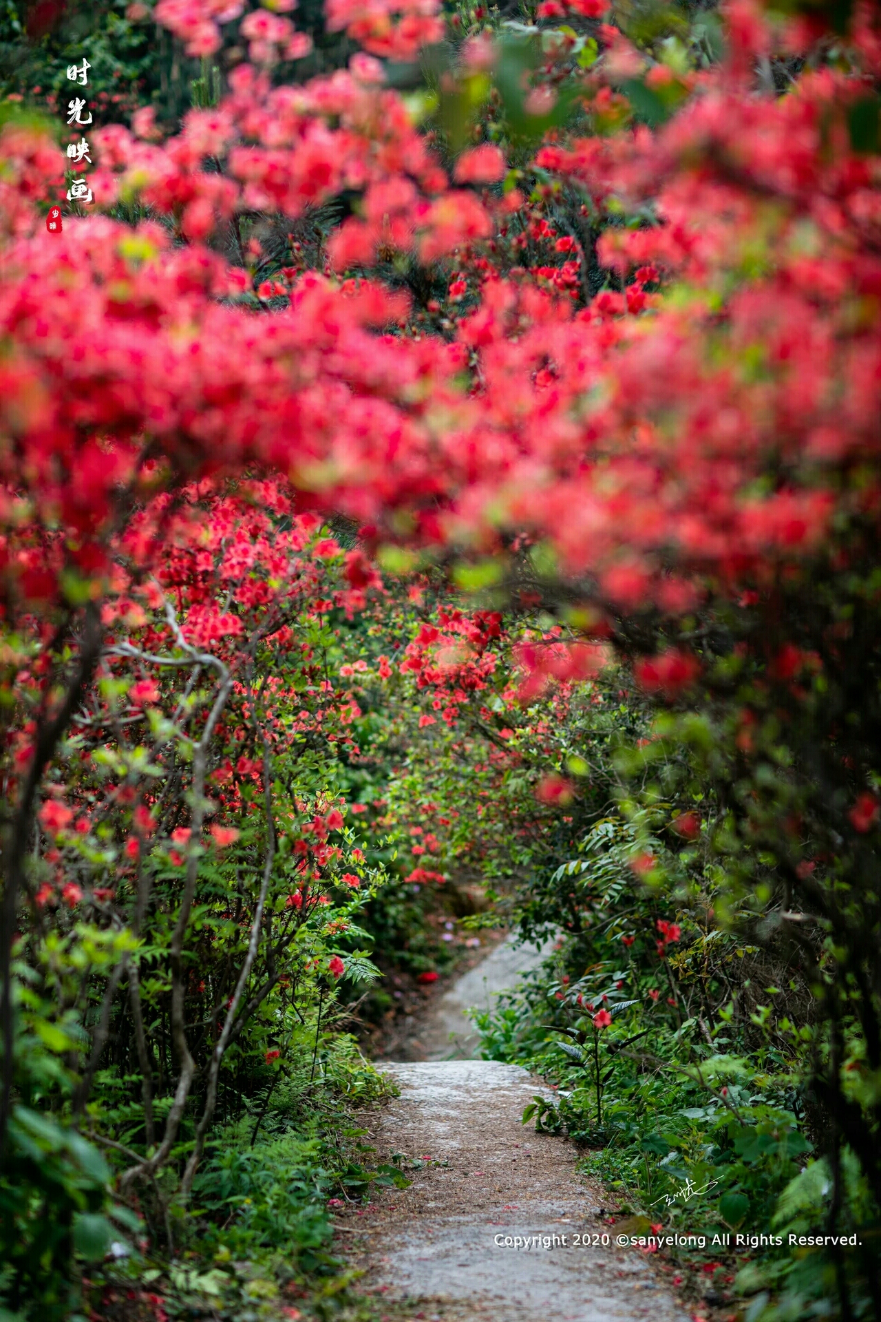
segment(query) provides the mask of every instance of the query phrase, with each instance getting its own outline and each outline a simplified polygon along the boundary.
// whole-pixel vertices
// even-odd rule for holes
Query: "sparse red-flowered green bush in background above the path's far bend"
[[[439,859],[452,875],[462,867],[507,875],[520,850],[542,850],[548,833],[565,830],[571,805],[581,810],[589,779],[580,788],[577,776],[549,768],[565,761],[560,738],[573,703],[593,713],[604,693],[581,682],[579,648],[572,669],[573,645],[560,635],[559,627],[546,636],[514,627],[498,612],[453,611],[448,603],[428,612],[421,604],[398,652],[412,722],[404,739],[413,750],[391,812],[380,820],[411,837],[416,867],[407,880],[440,879],[433,875]],[[523,656],[538,662],[555,650],[559,677],[524,691]],[[588,764],[577,767],[586,777]]]

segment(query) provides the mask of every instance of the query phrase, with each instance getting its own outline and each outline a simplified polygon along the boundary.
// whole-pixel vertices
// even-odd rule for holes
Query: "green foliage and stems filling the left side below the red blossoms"
[[[328,558],[330,586],[342,551]],[[262,572],[252,568],[258,598]],[[341,812],[351,777],[338,740],[357,752],[357,706],[325,677],[361,633],[345,611],[312,612],[296,591],[281,609],[271,619],[296,628],[297,646],[268,645],[259,619],[252,669],[234,687],[227,666],[238,658],[206,660],[169,629],[173,611],[139,607],[108,642],[88,714],[41,787],[15,951],[17,1107],[0,1186],[0,1289],[28,1322],[66,1317],[81,1266],[106,1276],[114,1241],[127,1255],[114,1270],[156,1272],[181,1300],[222,1286],[214,1229],[231,1208],[221,1216],[210,1177],[211,1161],[231,1153],[234,1260],[275,1263],[287,1235],[288,1266],[304,1281],[339,1274],[325,1245],[328,1191],[359,1198],[374,1178],[392,1178],[357,1157],[350,1118],[388,1096],[387,1081],[339,1032],[346,999],[379,976],[361,920],[394,853],[379,837],[367,857]],[[141,629],[152,631],[145,649]],[[246,1179],[255,1195],[242,1194]],[[205,1216],[189,1211],[202,1192]],[[143,1216],[133,1228],[152,1245],[145,1261],[114,1228],[119,1202]],[[205,1270],[194,1263],[194,1277],[176,1276],[181,1251]]]

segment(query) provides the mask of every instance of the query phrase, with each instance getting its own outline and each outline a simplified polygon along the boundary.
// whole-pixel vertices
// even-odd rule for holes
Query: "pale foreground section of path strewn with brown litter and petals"
[[[687,1322],[642,1255],[614,1245],[572,1146],[520,1124],[540,1089],[526,1069],[470,1059],[383,1068],[400,1096],[376,1117],[372,1142],[412,1185],[343,1212],[337,1240],[383,1318]]]

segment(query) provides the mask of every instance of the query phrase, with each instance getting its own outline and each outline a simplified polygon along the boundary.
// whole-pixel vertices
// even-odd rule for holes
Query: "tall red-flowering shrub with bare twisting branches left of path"
[[[32,921],[16,948],[33,977],[17,1006],[11,1134],[36,1087],[28,1044],[42,1042],[58,1058],[50,1092],[74,1122],[90,1108],[125,1125],[119,1186],[156,1191],[140,1204],[153,1233],[166,1215],[156,1173],[177,1161],[181,1126],[193,1136],[186,1200],[215,1117],[229,1122],[251,1089],[268,1087],[268,1104],[296,1026],[310,1021],[314,1062],[337,984],[375,974],[345,933],[382,871],[365,867],[333,781],[358,706],[322,676],[341,646],[328,615],[354,619],[379,576],[365,579],[320,527],[269,481],[226,494],[202,483],[139,512],[110,546],[102,645],[40,789]],[[160,537],[147,576],[141,557]],[[41,678],[58,664],[52,639],[38,641],[12,690],[22,713],[40,713]],[[37,727],[22,719],[18,765],[34,756]],[[268,1083],[260,1071],[240,1077],[248,1058],[273,1066]],[[59,1072],[62,1059],[75,1069]],[[107,1071],[140,1076],[141,1096],[108,1092]],[[66,1274],[77,1203],[52,1214],[65,1232],[44,1289],[48,1208],[28,1187],[25,1222],[9,1228],[11,1298],[62,1307],[53,1273]],[[90,1215],[111,1235],[95,1202]]]

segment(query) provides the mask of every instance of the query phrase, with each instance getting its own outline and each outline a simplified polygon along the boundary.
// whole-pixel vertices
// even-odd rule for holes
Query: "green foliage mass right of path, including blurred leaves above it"
[[[724,1260],[722,1296],[746,1298],[752,1318],[782,1322],[827,1309],[844,1272],[859,1315],[876,1273],[877,1196],[847,1140],[837,1178],[824,1155],[828,1128],[811,1084],[835,1050],[818,1022],[823,992],[773,919],[778,857],[757,846],[758,832],[738,837],[720,810],[725,735],[707,715],[651,722],[625,699],[605,738],[588,740],[576,713],[553,740],[571,739],[561,769],[588,780],[589,768],[567,808],[579,836],[565,862],[548,850],[515,910],[524,936],[564,940],[520,992],[474,1015],[483,1055],[544,1075],[553,1092],[536,1096],[524,1121],[581,1144],[586,1169],[625,1207],[709,1236],[703,1260],[682,1257],[695,1282],[707,1259]],[[779,728],[769,738],[762,788],[745,781],[738,793],[753,821],[761,812],[770,843],[773,814],[796,784]],[[815,947],[826,984],[833,943],[824,949]],[[609,1025],[596,1025],[601,1009]],[[841,1032],[843,1087],[870,1103],[856,1017],[843,1018]],[[713,1235],[724,1245],[725,1235],[762,1227],[782,1243],[746,1240],[740,1263],[712,1247]],[[789,1243],[818,1232],[857,1243]]]

